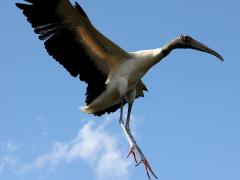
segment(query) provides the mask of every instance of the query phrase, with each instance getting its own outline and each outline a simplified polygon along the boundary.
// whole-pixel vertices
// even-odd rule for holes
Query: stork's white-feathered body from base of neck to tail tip
[[[91,104],[81,108],[83,112],[92,114],[115,105],[125,98],[133,102],[136,96],[136,84],[152,67],[152,61],[161,53],[161,48],[131,52],[131,59],[123,61],[108,79],[107,89]],[[159,60],[159,58],[157,58]]]

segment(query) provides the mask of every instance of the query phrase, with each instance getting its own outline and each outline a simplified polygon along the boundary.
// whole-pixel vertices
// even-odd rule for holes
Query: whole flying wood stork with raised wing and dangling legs
[[[120,125],[129,141],[130,151],[137,164],[143,163],[157,178],[146,157],[134,140],[129,122],[133,102],[147,91],[141,78],[173,49],[190,48],[223,58],[214,50],[181,35],[161,48],[127,52],[101,34],[87,14],[69,0],[25,0],[16,3],[32,24],[34,32],[44,41],[49,55],[74,77],[87,83],[86,106],[82,111],[101,116],[120,108]],[[123,106],[128,104],[126,122]]]

